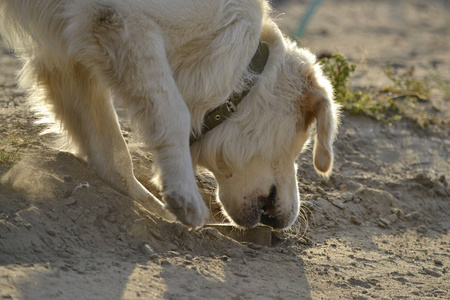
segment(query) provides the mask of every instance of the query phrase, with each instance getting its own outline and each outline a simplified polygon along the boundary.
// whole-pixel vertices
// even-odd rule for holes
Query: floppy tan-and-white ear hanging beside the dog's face
[[[315,77],[315,76],[314,76]],[[317,78],[309,81],[308,89],[300,100],[300,124],[304,131],[316,121],[314,136],[314,167],[328,177],[333,169],[333,141],[339,123],[339,107],[333,101],[333,91],[328,80]]]

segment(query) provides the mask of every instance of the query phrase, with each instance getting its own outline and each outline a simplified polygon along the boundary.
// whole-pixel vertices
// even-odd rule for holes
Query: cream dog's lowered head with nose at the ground
[[[230,221],[282,229],[298,216],[295,160],[310,136],[316,170],[331,172],[338,106],[316,58],[294,44],[271,49],[264,72],[239,112],[192,150],[214,173]]]

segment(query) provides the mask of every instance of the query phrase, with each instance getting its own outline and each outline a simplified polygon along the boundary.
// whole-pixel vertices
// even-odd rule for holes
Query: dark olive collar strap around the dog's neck
[[[253,55],[247,69],[255,75],[260,75],[264,71],[268,59],[269,46],[260,41],[258,49],[256,50],[255,55]],[[209,111],[203,119],[201,135],[196,137],[191,134],[189,140],[190,145],[200,140],[206,133],[222,124],[225,120],[229,119],[235,112],[237,112],[237,106],[241,103],[245,96],[250,93],[251,89],[255,86],[256,81],[257,76],[252,77],[252,79],[248,80],[247,88],[245,90],[240,93],[233,93],[224,104]]]

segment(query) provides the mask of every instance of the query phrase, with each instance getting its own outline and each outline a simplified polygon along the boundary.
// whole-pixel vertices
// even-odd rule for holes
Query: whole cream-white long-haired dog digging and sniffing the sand
[[[120,99],[155,154],[165,207],[193,227],[208,216],[195,165],[214,173],[243,227],[295,222],[295,159],[310,134],[317,171],[331,172],[332,88],[269,13],[265,0],[0,0],[21,84],[74,152],[118,191],[162,207],[133,175],[111,95]]]

